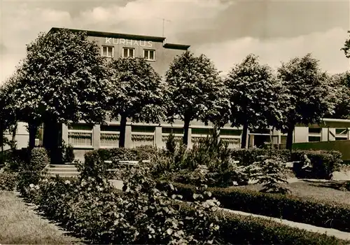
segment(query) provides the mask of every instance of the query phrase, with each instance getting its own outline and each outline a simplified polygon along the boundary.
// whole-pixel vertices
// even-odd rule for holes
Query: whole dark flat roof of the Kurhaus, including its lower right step
[[[160,36],[144,36],[144,35],[134,35],[134,34],[122,34],[122,33],[113,33],[113,32],[105,32],[105,31],[89,31],[89,30],[83,30],[83,29],[70,29],[70,28],[59,28],[59,27],[52,27],[50,29],[50,32],[57,31],[59,29],[68,29],[72,32],[86,32],[87,36],[99,36],[99,37],[110,37],[110,38],[126,38],[126,39],[132,39],[132,40],[144,40],[144,41],[165,41],[165,37]],[[165,43],[163,45],[164,48],[172,48],[172,49],[180,49],[180,50],[187,50],[190,48],[190,45],[183,45],[183,44],[174,44],[174,43]]]

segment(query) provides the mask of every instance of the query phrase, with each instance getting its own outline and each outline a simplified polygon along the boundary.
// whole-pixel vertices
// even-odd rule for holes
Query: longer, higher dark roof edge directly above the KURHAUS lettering
[[[145,41],[165,41],[165,37],[160,36],[144,36],[144,35],[133,35],[133,34],[120,34],[120,33],[113,33],[113,32],[104,32],[104,31],[87,31],[87,30],[81,30],[81,29],[69,29],[69,28],[59,28],[59,27],[52,27],[49,33],[52,31],[57,31],[59,29],[68,29],[72,32],[78,32],[78,31],[84,31],[87,33],[87,36],[101,36],[101,37],[111,37],[111,38],[128,38],[128,39],[137,39],[137,40],[145,40]]]

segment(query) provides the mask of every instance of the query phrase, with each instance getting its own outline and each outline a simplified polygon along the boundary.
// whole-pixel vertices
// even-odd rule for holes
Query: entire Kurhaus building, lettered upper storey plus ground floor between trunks
[[[52,28],[55,31],[58,28]],[[83,31],[70,29],[71,31]],[[114,59],[118,57],[144,57],[153,66],[160,76],[164,76],[169,68],[169,64],[176,55],[181,55],[190,48],[190,45],[166,43],[164,37],[140,36],[132,34],[118,34],[102,31],[86,31],[90,40],[96,41],[101,49],[101,55]],[[87,125],[80,122],[71,127],[62,126],[62,139],[74,147],[76,158],[84,160],[83,155],[86,151],[98,148],[116,148],[119,141],[118,120],[107,122],[107,125]],[[23,126],[24,127],[24,126]],[[188,147],[210,134],[211,126],[204,125],[197,121],[190,123],[188,132]],[[132,123],[129,121],[125,130],[125,147],[150,145],[164,147],[170,133],[173,133],[176,139],[183,137],[183,122],[176,120],[172,125],[169,123],[146,124]],[[221,129],[221,139],[227,141],[230,148],[239,148],[242,128],[232,128],[225,125]],[[6,135],[10,137],[10,134]],[[25,136],[23,136],[25,137]],[[272,138],[273,144],[283,146],[286,143],[286,134],[279,131],[267,130],[249,130],[247,146],[263,146]],[[20,138],[22,141],[22,138]],[[23,138],[25,139],[25,138]],[[26,138],[27,139],[27,138]],[[293,133],[293,146],[312,142],[313,148],[328,148],[337,146],[344,148],[343,155],[349,153],[350,147],[350,120],[324,119],[323,125],[310,125],[305,127],[297,125]],[[22,142],[25,144],[26,142]],[[21,143],[21,146],[23,145]],[[338,146],[339,145],[339,146]],[[22,146],[24,147],[24,146]],[[303,147],[303,146],[302,146]],[[350,154],[346,158],[350,160]]]

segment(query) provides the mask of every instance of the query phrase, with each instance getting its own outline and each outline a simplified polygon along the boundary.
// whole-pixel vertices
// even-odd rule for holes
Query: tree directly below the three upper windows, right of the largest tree
[[[127,118],[136,123],[159,123],[164,118],[161,78],[141,57],[115,59],[108,68],[111,118],[120,117],[119,147],[125,147]]]

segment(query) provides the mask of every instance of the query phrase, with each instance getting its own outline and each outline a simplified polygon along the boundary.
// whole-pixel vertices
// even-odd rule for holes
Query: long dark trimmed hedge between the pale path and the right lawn
[[[193,202],[195,186],[173,184],[178,190],[177,194],[183,195],[183,200]],[[209,191],[225,209],[350,232],[350,205],[242,188],[209,188]]]

